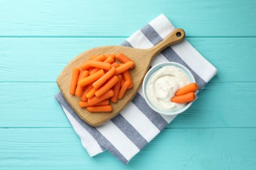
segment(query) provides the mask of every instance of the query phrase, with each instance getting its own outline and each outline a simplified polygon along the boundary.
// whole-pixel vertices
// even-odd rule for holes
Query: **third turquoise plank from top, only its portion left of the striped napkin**
[[[1,127],[72,127],[54,94],[56,83],[1,83]]]

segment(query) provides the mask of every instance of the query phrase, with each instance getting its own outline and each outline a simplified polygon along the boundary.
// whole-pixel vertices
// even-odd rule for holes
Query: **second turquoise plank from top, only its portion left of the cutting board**
[[[56,82],[62,69],[89,48],[124,39],[0,39],[0,80]]]

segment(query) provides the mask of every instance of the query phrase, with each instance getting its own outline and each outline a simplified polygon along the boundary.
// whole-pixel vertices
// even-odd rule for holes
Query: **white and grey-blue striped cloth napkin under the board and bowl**
[[[167,37],[173,29],[171,22],[161,14],[121,45],[150,48]],[[165,61],[174,61],[186,66],[194,75],[199,90],[217,73],[217,69],[186,40],[163,50],[154,58],[151,66]],[[55,98],[90,156],[108,150],[125,165],[176,116],[164,116],[150,109],[140,88],[120,114],[100,127],[91,127],[75,114],[62,93],[57,93]]]

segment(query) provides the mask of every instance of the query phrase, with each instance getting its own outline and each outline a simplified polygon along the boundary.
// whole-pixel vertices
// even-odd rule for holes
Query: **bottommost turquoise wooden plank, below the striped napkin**
[[[255,169],[255,140],[255,128],[168,128],[125,167],[90,158],[73,129],[0,129],[0,169]]]

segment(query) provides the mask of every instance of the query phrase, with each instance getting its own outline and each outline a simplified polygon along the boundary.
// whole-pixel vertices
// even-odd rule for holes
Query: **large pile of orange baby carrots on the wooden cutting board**
[[[110,101],[116,103],[133,87],[129,70],[134,66],[135,62],[122,53],[91,56],[74,68],[70,94],[80,97],[79,107],[89,112],[111,112]]]

